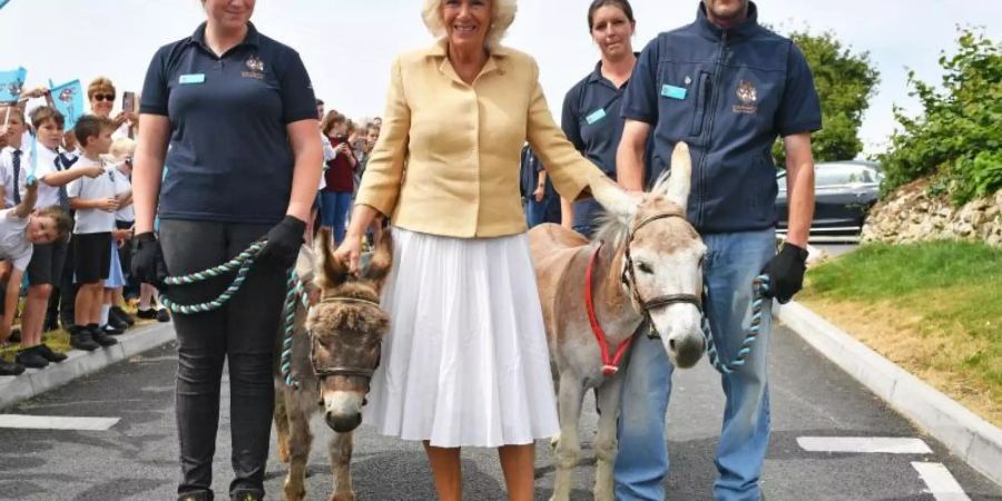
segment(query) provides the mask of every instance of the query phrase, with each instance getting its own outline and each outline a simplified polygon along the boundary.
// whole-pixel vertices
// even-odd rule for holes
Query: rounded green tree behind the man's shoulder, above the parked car
[[[832,31],[811,35],[804,29],[788,36],[804,52],[821,98],[824,128],[811,138],[814,159],[855,158],[863,150],[863,141],[856,132],[880,82],[880,72],[870,62],[870,52],[853,53]],[[773,145],[773,156],[780,167],[786,165],[782,139]]]

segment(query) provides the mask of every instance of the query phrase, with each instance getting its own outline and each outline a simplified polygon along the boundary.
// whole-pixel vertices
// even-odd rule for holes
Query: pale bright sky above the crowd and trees
[[[317,97],[352,118],[377,116],[395,55],[433,38],[421,20],[422,0],[257,0],[252,21],[295,48]],[[697,0],[632,0],[633,49],[657,33],[691,22]],[[598,49],[588,33],[588,0],[519,0],[503,43],[532,55],[554,119],[563,96],[589,73]],[[907,69],[939,84],[942,50],[956,27],[975,26],[1002,41],[999,0],[757,0],[759,21],[780,31],[833,31],[854,52],[870,52],[881,84],[859,130],[864,155],[887,144],[894,105],[921,110],[908,96]],[[205,19],[198,0],[10,0],[0,9],[0,69],[23,66],[28,87],[97,76],[140,90],[156,49],[190,35]],[[121,98],[117,106],[121,105]]]

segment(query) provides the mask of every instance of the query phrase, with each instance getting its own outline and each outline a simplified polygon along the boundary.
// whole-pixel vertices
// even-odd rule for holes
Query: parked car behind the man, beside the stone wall
[[[857,234],[880,197],[884,174],[872,161],[833,161],[814,166],[814,224],[812,234]],[[776,175],[779,229],[786,229],[786,170]]]

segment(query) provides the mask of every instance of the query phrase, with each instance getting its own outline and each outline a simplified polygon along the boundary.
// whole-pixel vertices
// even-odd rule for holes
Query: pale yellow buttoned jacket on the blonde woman
[[[553,122],[529,55],[494,49],[471,86],[449,62],[443,39],[397,57],[391,75],[355,203],[395,226],[462,238],[525,232],[519,168],[527,140],[566,198],[602,176]]]

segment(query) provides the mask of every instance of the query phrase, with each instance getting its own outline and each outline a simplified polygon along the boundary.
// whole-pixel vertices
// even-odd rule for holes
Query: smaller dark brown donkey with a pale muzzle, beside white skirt
[[[390,331],[390,316],[380,307],[380,289],[392,262],[389,232],[357,277],[333,258],[330,230],[317,235],[315,250],[304,246],[299,253],[296,273],[311,306],[307,312],[302,302],[296,304],[291,375],[298,387],[286,386],[281,363],[275,364],[275,428],[278,458],[289,463],[285,478],[285,499],[289,501],[306,495],[306,462],[313,441],[310,418],[321,411],[334,431],[328,445],[334,475],[330,499],[355,499],[352,433],[362,423],[369,383],[380,363],[383,336]]]

